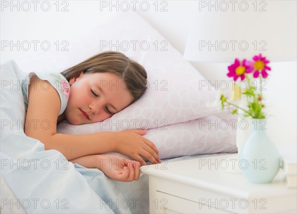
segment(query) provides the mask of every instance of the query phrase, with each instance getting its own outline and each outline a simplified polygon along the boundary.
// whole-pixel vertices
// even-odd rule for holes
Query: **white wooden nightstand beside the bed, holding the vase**
[[[220,171],[234,155],[149,165],[149,211],[156,213],[297,213],[297,190],[281,174],[266,184]],[[237,163],[238,164],[238,163]]]

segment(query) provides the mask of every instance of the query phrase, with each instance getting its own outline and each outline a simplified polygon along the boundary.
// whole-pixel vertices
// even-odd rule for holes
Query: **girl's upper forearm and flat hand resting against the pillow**
[[[160,163],[155,145],[141,136],[145,133],[146,130],[141,129],[94,134],[56,133],[43,137],[41,141],[45,144],[45,150],[58,150],[67,160],[86,155],[118,152],[131,157],[142,165],[147,164],[140,155],[153,164]]]

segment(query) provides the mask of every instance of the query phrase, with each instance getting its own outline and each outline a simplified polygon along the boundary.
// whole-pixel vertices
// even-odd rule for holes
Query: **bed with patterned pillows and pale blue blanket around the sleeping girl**
[[[1,191],[2,213],[149,213],[149,208],[139,203],[148,201],[147,175],[141,174],[139,180],[130,183],[114,181],[98,169],[86,169],[68,162],[56,150],[45,151],[43,143],[27,137],[23,131],[25,107],[21,80],[24,75],[30,71],[62,71],[99,51],[109,50],[110,47],[102,45],[102,41],[136,40],[149,44],[164,41],[163,44],[167,44],[167,50],[163,52],[153,48],[120,50],[147,68],[151,86],[156,80],[158,83],[166,80],[168,90],[161,92],[169,94],[157,97],[155,94],[161,92],[150,89],[137,103],[107,123],[127,117],[148,120],[146,137],[158,147],[163,163],[237,151],[236,129],[220,118],[226,112],[209,104],[215,101],[216,91],[208,90],[208,87],[204,91],[203,88],[198,90],[199,81],[205,81],[203,77],[137,13],[115,14],[106,22],[99,21],[96,27],[92,26],[90,32],[92,34],[72,37],[69,34],[68,51],[29,51],[25,57],[1,64],[1,190],[5,189],[5,192]],[[174,90],[177,79],[180,81],[178,86],[193,93],[178,92],[184,102],[171,103],[168,105],[170,109],[164,109],[171,94],[177,93]],[[140,107],[145,106],[148,110],[140,112]],[[158,122],[154,123],[155,120]],[[224,129],[208,126],[209,123],[222,125],[223,122]],[[72,126],[63,121],[57,132],[84,134],[144,128],[141,126],[141,123],[135,127],[129,124],[110,128],[102,123]],[[127,201],[131,203],[127,204]]]

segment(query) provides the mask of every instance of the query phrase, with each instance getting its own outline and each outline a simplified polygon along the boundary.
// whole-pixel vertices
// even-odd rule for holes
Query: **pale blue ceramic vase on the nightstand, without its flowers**
[[[253,132],[239,154],[239,167],[251,183],[269,183],[280,168],[280,154],[266,134],[266,120],[252,119]]]

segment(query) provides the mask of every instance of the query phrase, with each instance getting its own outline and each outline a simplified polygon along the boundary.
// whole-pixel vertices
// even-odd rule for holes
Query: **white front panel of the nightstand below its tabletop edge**
[[[240,198],[176,181],[149,176],[150,213],[296,213],[297,196]],[[226,206],[226,204],[228,206]],[[233,204],[234,202],[234,204]]]

